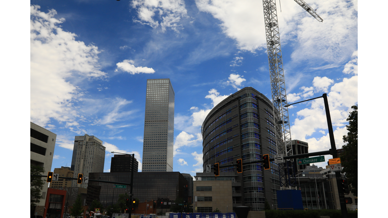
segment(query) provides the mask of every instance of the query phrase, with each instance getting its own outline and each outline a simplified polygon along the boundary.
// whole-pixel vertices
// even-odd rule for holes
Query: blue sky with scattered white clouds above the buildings
[[[70,166],[74,136],[142,162],[147,79],[175,91],[175,172],[202,172],[202,122],[251,86],[271,98],[261,1],[34,1],[30,6],[30,121],[57,134],[53,166]],[[277,2],[278,3],[278,2]],[[357,1],[317,1],[320,23],[294,1],[278,21],[288,103],[328,94],[337,148],[358,104]],[[323,100],[289,107],[292,139],[330,148]],[[326,160],[331,158],[326,156]],[[324,167],[324,163],[317,164]]]

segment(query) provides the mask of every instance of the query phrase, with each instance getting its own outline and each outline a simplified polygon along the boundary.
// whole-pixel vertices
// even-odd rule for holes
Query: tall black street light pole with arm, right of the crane
[[[301,103],[301,102],[305,102],[305,101],[309,101],[309,100],[314,100],[314,99],[317,99],[317,98],[323,98],[323,101],[324,101],[324,104],[325,104],[325,111],[326,111],[327,128],[328,128],[328,131],[329,131],[329,138],[330,138],[330,145],[331,145],[330,154],[333,156],[333,158],[337,158],[338,157],[337,156],[337,149],[335,147],[334,132],[333,132],[333,126],[331,124],[329,103],[327,101],[327,94],[326,93],[324,93],[320,97],[315,97],[315,98],[307,99],[307,100],[304,100],[304,101],[295,102],[295,103],[292,103],[292,104],[285,104],[284,106],[288,107],[288,106],[293,105],[293,104],[297,104],[297,103]],[[342,217],[343,218],[348,218],[348,210],[346,208],[346,203],[345,203],[345,194],[344,194],[344,191],[341,188],[340,183],[338,182],[338,180],[341,179],[341,173],[340,172],[335,171],[335,179],[336,179],[336,182],[337,182],[338,195],[340,196],[340,205],[341,205]]]

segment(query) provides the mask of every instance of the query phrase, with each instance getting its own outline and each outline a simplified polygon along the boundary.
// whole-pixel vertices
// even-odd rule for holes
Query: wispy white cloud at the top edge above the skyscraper
[[[135,22],[160,28],[162,32],[167,28],[179,32],[181,18],[187,17],[183,0],[134,0],[131,6],[137,11]]]

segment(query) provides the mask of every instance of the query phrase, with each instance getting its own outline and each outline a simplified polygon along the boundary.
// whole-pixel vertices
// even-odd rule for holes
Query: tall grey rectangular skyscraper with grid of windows
[[[142,172],[172,172],[174,99],[170,79],[148,79]]]

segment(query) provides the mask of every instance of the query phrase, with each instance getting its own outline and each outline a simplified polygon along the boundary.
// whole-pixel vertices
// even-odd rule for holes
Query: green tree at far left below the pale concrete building
[[[44,169],[38,166],[30,166],[30,175],[42,175]],[[35,213],[35,207],[42,198],[41,191],[46,182],[41,177],[30,177],[30,211]]]

